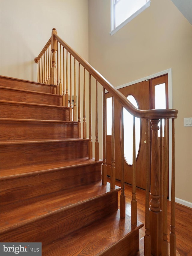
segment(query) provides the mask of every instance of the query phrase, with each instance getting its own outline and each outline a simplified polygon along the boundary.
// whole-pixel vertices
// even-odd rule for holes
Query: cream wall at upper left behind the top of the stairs
[[[37,80],[34,58],[52,28],[88,60],[87,0],[0,0],[0,74]]]

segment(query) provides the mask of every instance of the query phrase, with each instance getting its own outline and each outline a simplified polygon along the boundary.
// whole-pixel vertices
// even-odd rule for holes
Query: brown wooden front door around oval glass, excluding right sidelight
[[[150,109],[150,90],[149,80],[143,81],[131,86],[119,89],[119,91],[127,97],[132,95],[141,110]],[[106,93],[106,98],[111,95]],[[114,101],[114,120],[115,120],[115,168],[116,179],[121,180],[121,104]],[[136,186],[146,188],[146,121],[140,119],[140,145],[136,160]],[[124,130],[124,134],[126,130]],[[107,175],[110,176],[111,165],[111,135],[106,136],[107,144]],[[126,145],[128,146],[128,145]],[[130,145],[133,146],[133,145]],[[132,184],[132,164],[129,164],[124,158],[125,182]]]

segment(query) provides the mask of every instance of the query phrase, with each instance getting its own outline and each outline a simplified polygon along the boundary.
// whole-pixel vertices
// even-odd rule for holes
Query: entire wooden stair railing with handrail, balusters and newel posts
[[[102,183],[107,183],[106,165],[106,90],[112,95],[112,156],[111,156],[111,189],[115,188],[115,134],[114,134],[114,99],[122,105],[122,178],[120,195],[120,218],[125,218],[125,175],[124,175],[124,129],[123,108],[134,116],[133,126],[133,182],[131,200],[131,224],[137,225],[137,199],[136,199],[136,153],[135,153],[135,117],[146,120],[146,218],[144,237],[145,256],[168,255],[167,239],[167,172],[168,172],[168,120],[172,119],[172,186],[171,186],[171,232],[170,255],[176,255],[175,234],[175,134],[174,119],[177,118],[177,110],[140,110],[98,73],[88,62],[82,59],[68,44],[58,35],[56,29],[52,30],[52,36],[35,58],[38,63],[38,82],[57,86],[56,93],[61,95],[63,106],[70,108],[70,120],[77,121],[78,138],[87,138],[86,122],[86,92],[89,98],[89,141],[88,158],[92,153],[92,103],[91,89],[95,80],[95,161],[99,159],[98,137],[98,85],[103,86],[103,165]],[[78,72],[76,72],[78,70]],[[78,73],[78,74],[77,74]],[[69,79],[68,79],[69,77]],[[76,88],[78,80],[78,89]],[[87,86],[88,84],[88,86]],[[83,86],[82,86],[83,85]],[[81,89],[83,87],[83,90]],[[69,91],[68,91],[69,88]],[[76,91],[78,95],[76,95]],[[73,94],[73,95],[72,95]],[[77,99],[78,98],[78,99]],[[81,101],[83,98],[83,102]],[[78,113],[76,103],[78,102]],[[83,123],[81,125],[81,107],[83,108]],[[162,120],[164,126],[164,151],[162,140]],[[161,123],[160,127],[158,126]],[[82,130],[81,130],[82,128]],[[158,130],[160,129],[160,145],[158,142]],[[152,134],[152,135],[151,135]],[[152,140],[150,139],[152,138]],[[160,154],[159,154],[160,146]],[[149,198],[151,200],[149,201]]]

